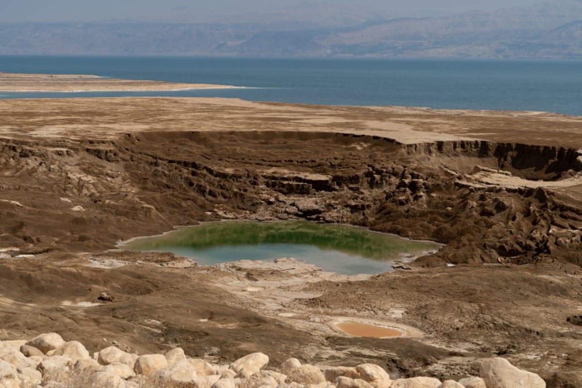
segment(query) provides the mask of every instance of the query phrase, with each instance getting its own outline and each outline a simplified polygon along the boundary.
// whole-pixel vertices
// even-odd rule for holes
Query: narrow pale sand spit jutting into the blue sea
[[[208,88],[237,88],[230,85],[122,80],[76,74],[19,74],[0,72],[2,92],[100,92],[176,91]]]

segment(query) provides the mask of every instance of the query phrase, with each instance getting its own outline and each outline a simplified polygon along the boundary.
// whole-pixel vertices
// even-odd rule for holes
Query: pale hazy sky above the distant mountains
[[[205,13],[232,13],[232,10],[254,11],[276,6],[304,3],[306,0],[3,0],[0,22],[55,22],[68,20],[118,19],[139,15],[155,15],[155,12],[178,6],[200,9]],[[324,2],[308,0],[308,2]],[[326,0],[326,2],[330,2]],[[510,6],[527,6],[543,0],[335,0],[354,6],[371,6],[404,15],[423,9],[445,12],[463,12],[481,9],[493,10]],[[551,2],[551,1],[549,1]],[[230,12],[229,12],[230,11]]]

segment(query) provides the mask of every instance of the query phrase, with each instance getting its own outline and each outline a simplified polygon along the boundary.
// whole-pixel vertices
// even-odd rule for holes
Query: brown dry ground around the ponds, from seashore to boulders
[[[439,379],[503,355],[549,387],[580,386],[581,123],[236,99],[0,101],[0,340],[56,331],[90,350],[261,351]],[[413,270],[352,277],[115,250],[225,218],[447,245]],[[352,337],[333,330],[344,317],[418,335]]]

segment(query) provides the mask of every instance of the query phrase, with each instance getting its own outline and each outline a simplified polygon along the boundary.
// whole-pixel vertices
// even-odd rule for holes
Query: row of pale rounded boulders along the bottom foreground
[[[230,364],[191,358],[176,347],[166,354],[137,355],[118,347],[93,357],[79,341],[45,333],[33,339],[0,343],[0,388],[545,388],[535,373],[504,358],[486,359],[480,377],[445,380],[418,376],[398,378],[378,365],[320,368],[289,358],[278,367],[263,353]]]

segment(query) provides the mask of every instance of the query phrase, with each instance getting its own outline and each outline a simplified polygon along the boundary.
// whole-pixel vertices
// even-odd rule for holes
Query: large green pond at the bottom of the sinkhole
[[[220,221],[178,227],[163,236],[140,237],[121,243],[130,251],[173,252],[201,265],[237,260],[294,257],[345,275],[392,270],[441,245],[413,241],[362,227],[308,221]]]

